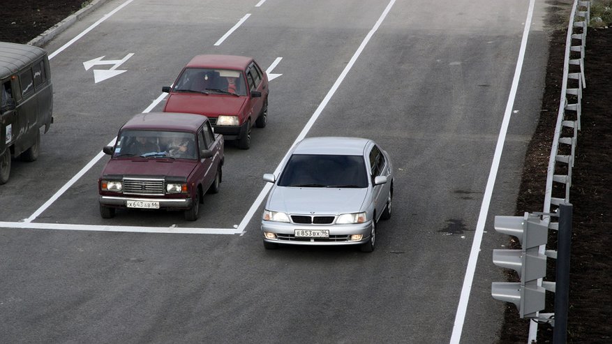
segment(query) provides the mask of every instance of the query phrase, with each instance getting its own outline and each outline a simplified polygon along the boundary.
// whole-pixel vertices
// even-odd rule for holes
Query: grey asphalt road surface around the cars
[[[491,251],[508,238],[493,217],[514,214],[537,124],[542,6],[107,1],[45,46],[55,121],[40,158],[13,161],[0,186],[0,341],[494,342],[505,305],[491,281],[505,277]],[[161,111],[161,87],[196,54],[248,55],[282,74],[267,127],[249,150],[226,144],[221,192],[195,223],[100,218],[102,147],[133,114]],[[98,57],[108,64],[84,67]],[[95,82],[94,69],[125,72]],[[264,250],[262,174],[297,138],[323,135],[389,152],[393,217],[371,254]]]

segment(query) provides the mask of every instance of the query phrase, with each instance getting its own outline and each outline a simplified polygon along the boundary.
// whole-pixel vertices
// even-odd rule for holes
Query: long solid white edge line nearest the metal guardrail
[[[461,299],[457,306],[457,313],[455,315],[455,322],[453,327],[453,334],[451,336],[451,344],[459,343],[461,341],[461,332],[463,331],[463,323],[465,322],[465,312],[468,308],[468,301],[470,299],[470,292],[472,290],[472,282],[474,281],[474,274],[476,271],[476,264],[478,261],[478,254],[480,252],[480,244],[482,243],[482,234],[484,232],[484,224],[486,223],[486,217],[488,215],[488,207],[491,204],[491,195],[493,194],[493,186],[495,186],[495,178],[498,174],[500,165],[500,159],[502,151],[504,149],[504,142],[506,140],[506,134],[508,131],[508,125],[510,117],[512,117],[512,107],[514,106],[514,99],[516,98],[516,90],[518,89],[518,80],[521,77],[521,70],[523,69],[523,60],[525,59],[525,50],[527,47],[527,39],[529,37],[529,27],[531,26],[531,20],[533,15],[533,6],[535,0],[529,1],[529,10],[527,13],[527,19],[525,20],[525,27],[523,29],[523,39],[521,40],[521,49],[518,51],[518,61],[516,61],[516,68],[514,70],[514,79],[512,80],[512,87],[508,97],[508,103],[506,104],[506,110],[502,126],[500,128],[500,135],[498,136],[498,142],[495,146],[495,154],[493,155],[493,162],[491,163],[491,170],[488,174],[488,180],[486,182],[486,188],[484,190],[484,197],[480,207],[480,214],[478,216],[478,223],[476,225],[476,231],[474,234],[474,241],[472,242],[472,250],[470,251],[470,260],[468,260],[468,267],[465,271],[465,277],[463,278],[463,287],[461,289]],[[489,295],[491,297],[491,295]]]

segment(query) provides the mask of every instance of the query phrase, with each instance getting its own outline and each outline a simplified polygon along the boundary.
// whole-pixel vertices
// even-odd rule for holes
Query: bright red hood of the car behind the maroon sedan
[[[220,114],[237,115],[246,99],[218,94],[170,94],[164,112],[188,112],[206,117],[218,117]]]

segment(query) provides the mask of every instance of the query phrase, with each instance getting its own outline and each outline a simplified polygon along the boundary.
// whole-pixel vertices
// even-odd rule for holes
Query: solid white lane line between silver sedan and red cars
[[[385,20],[385,17],[387,17],[387,13],[389,13],[389,10],[391,10],[391,7],[393,7],[394,3],[395,3],[395,0],[391,0],[389,2],[389,4],[387,5],[387,8],[385,8],[385,10],[382,12],[382,15],[380,15],[380,17],[376,21],[376,24],[374,24],[374,27],[370,30],[370,32],[368,32],[368,34],[366,35],[366,38],[364,38],[364,40],[361,42],[361,45],[359,45],[359,47],[357,48],[357,51],[354,52],[350,61],[345,66],[342,73],[340,73],[340,76],[338,76],[338,79],[336,79],[336,82],[334,82],[334,85],[331,86],[331,89],[329,89],[329,91],[327,92],[327,95],[321,101],[321,103],[317,107],[317,110],[315,110],[315,112],[312,114],[311,119],[308,120],[308,123],[306,123],[306,126],[304,126],[304,129],[301,130],[301,133],[297,135],[297,138],[295,139],[295,141],[293,142],[293,144],[291,145],[287,153],[285,153],[285,156],[281,160],[281,163],[279,163],[278,166],[276,166],[276,170],[274,170],[274,174],[278,176],[278,173],[281,172],[280,170],[281,170],[281,166],[283,165],[283,161],[285,161],[285,159],[288,158],[289,152],[293,149],[293,147],[297,144],[297,142],[303,140],[304,137],[306,137],[306,134],[308,133],[308,131],[311,130],[313,124],[315,124],[315,121],[317,121],[317,119],[319,118],[319,115],[321,114],[321,112],[323,112],[323,109],[327,106],[327,103],[329,103],[329,100],[331,99],[331,97],[334,96],[334,94],[336,93],[336,90],[338,89],[338,87],[340,87],[340,84],[342,84],[349,70],[351,70],[355,61],[357,61],[357,59],[359,58],[359,55],[361,54],[361,52],[364,51],[364,48],[370,41],[370,38],[372,38],[374,33],[378,30],[378,27],[380,27],[380,24],[382,24],[382,21]],[[280,62],[281,58],[279,57],[278,59],[276,59],[274,63],[278,64],[277,61]],[[273,65],[276,66],[274,63]],[[273,67],[270,66],[270,68],[268,69],[271,70],[272,68]],[[271,187],[272,187],[272,184],[266,183],[263,190],[261,190],[257,199],[253,203],[253,205],[251,205],[251,208],[248,209],[246,216],[244,216],[244,218],[240,222],[240,225],[238,226],[239,230],[244,230],[244,228],[246,228],[246,225],[251,221],[251,218],[253,218],[253,214],[255,214],[255,211],[257,211],[257,209],[260,207],[261,203],[263,202],[264,198],[266,197]]]

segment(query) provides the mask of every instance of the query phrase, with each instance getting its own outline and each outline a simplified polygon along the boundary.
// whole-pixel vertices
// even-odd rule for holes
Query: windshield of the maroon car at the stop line
[[[177,131],[122,130],[113,156],[196,159],[195,135]]]

